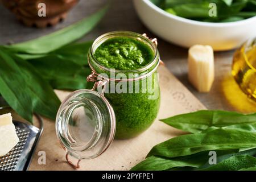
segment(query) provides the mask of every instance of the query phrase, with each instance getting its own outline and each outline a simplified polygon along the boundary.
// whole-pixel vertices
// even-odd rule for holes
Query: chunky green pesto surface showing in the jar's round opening
[[[116,37],[102,43],[93,56],[104,67],[127,71],[147,65],[154,59],[154,52],[137,39]]]

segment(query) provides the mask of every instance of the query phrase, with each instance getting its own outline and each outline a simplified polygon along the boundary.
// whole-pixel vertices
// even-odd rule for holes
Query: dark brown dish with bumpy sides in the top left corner
[[[79,0],[0,0],[0,2],[11,10],[15,16],[26,26],[47,27],[53,26],[67,16],[68,11],[76,5]],[[45,3],[46,16],[40,17],[38,11],[39,3]]]

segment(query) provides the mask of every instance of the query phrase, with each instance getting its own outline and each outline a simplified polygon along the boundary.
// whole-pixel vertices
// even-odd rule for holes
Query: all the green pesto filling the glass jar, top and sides
[[[95,51],[94,58],[107,68],[129,71],[143,67],[154,60],[154,52],[147,44],[133,38],[116,37],[106,40]],[[149,68],[148,71],[152,70]],[[101,73],[100,69],[96,69]],[[158,77],[152,76],[151,92],[143,87],[142,80],[132,81],[132,88],[139,85],[138,93],[105,93],[112,104],[116,118],[116,139],[133,138],[145,131],[154,122],[160,105],[160,96],[148,99],[155,93],[160,94]],[[150,76],[150,77],[151,77]],[[144,78],[146,79],[146,78]],[[117,86],[118,82],[110,82]],[[129,88],[129,82],[125,83]],[[116,87],[115,87],[116,88]],[[109,90],[109,89],[108,89]],[[152,90],[154,93],[152,93]],[[145,92],[146,91],[146,92]]]

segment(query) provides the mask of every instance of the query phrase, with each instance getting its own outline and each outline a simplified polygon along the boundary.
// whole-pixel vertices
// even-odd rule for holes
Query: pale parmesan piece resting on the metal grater
[[[18,142],[11,113],[0,115],[0,156],[10,152]]]

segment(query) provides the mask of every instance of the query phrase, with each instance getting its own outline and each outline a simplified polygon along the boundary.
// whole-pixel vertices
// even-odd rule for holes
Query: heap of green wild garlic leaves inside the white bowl
[[[151,0],[167,13],[202,22],[234,22],[254,16],[254,0]],[[216,7],[209,6],[214,3]],[[209,16],[209,11],[216,12]],[[247,12],[246,16],[240,13]]]

